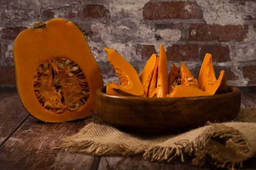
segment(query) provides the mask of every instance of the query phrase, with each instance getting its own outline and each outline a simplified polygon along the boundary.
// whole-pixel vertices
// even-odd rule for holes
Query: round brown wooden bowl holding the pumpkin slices
[[[241,93],[233,86],[227,91],[211,96],[145,98],[111,96],[102,87],[96,91],[96,111],[106,122],[130,130],[166,133],[234,119],[240,111]]]

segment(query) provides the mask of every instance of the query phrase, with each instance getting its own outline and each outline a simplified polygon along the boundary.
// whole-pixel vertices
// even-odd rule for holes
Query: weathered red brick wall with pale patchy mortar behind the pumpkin
[[[140,73],[163,43],[169,67],[184,61],[198,77],[205,53],[228,84],[256,85],[256,0],[1,0],[0,85],[15,84],[12,46],[38,20],[63,17],[83,31],[105,82],[116,80],[103,47]]]

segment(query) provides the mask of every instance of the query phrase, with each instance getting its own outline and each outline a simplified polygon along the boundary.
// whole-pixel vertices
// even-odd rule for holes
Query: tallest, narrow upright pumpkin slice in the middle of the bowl
[[[159,63],[158,63],[158,75],[157,75],[157,97],[163,97],[168,94],[169,81],[167,73],[167,58],[166,51],[163,48],[163,44],[160,45]]]

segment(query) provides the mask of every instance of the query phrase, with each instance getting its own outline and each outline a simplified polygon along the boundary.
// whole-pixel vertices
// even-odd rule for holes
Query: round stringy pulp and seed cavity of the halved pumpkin
[[[89,87],[78,64],[67,58],[55,58],[38,66],[34,91],[40,104],[49,111],[76,111],[87,102]]]

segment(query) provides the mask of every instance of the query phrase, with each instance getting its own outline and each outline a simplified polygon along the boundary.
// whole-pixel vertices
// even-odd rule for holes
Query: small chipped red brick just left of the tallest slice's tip
[[[136,45],[136,54],[141,55],[141,59],[143,60],[148,60],[153,53],[157,54],[157,51],[154,45],[142,45],[142,44]]]

